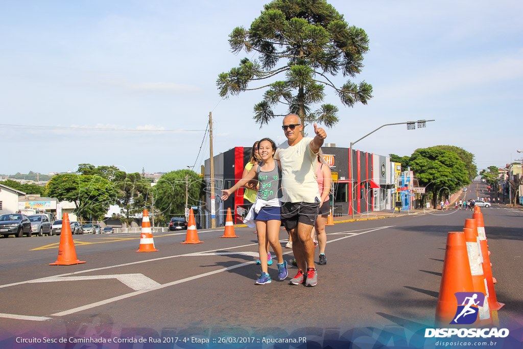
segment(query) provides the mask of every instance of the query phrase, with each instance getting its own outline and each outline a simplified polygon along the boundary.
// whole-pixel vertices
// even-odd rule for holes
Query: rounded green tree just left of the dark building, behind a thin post
[[[196,172],[177,170],[160,177],[158,183],[154,186],[154,190],[156,190],[154,206],[164,216],[184,215],[186,183],[188,185],[188,206],[199,205],[204,185]]]

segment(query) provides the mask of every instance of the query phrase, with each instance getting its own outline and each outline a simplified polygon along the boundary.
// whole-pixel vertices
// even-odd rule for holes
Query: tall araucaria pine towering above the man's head
[[[333,88],[345,106],[367,104],[372,98],[372,86],[365,81],[356,84],[349,80],[338,87],[329,80],[340,72],[350,77],[361,72],[369,39],[363,29],[349,26],[325,0],[272,1],[250,29],[235,28],[229,44],[236,54],[242,50],[258,53],[259,61],[244,58],[239,66],[221,73],[217,80],[220,96],[268,88],[254,106],[254,119],[260,127],[285,115],[272,110],[280,103],[298,115],[303,126],[319,122],[333,127],[338,122],[336,106],[323,104],[311,111],[313,104],[323,102],[325,86]],[[276,76],[282,76],[281,80],[268,82]],[[248,88],[249,82],[261,86]]]

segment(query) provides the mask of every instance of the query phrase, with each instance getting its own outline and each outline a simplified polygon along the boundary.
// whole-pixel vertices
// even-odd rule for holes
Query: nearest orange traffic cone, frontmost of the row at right
[[[456,315],[456,292],[473,292],[465,233],[449,232],[443,262],[443,273],[436,306],[436,324],[448,327]]]

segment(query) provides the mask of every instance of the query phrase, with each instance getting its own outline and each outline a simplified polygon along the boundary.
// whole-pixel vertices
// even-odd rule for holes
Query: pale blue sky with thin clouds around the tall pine
[[[0,123],[85,128],[0,127],[0,174],[74,171],[79,163],[199,171],[209,157],[208,137],[197,155],[210,111],[215,154],[263,137],[284,141],[281,119],[261,130],[252,119],[263,91],[222,100],[215,85],[218,74],[253,58],[231,53],[228,35],[248,28],[265,3],[0,0]],[[365,67],[352,80],[372,84],[374,97],[347,108],[327,88],[340,122],[326,142],[349,147],[384,123],[436,119],[415,131],[383,128],[355,148],[410,155],[451,144],[472,152],[479,168],[521,159],[522,2],[330,3],[369,36]]]

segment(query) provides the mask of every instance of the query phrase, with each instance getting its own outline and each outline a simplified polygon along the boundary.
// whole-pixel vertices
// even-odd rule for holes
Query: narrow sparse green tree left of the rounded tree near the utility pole
[[[120,206],[121,215],[118,218],[122,222],[130,224],[135,214],[142,212],[147,204],[151,205],[151,185],[144,181],[140,173],[118,171],[115,173],[113,186],[117,191],[116,202]]]

